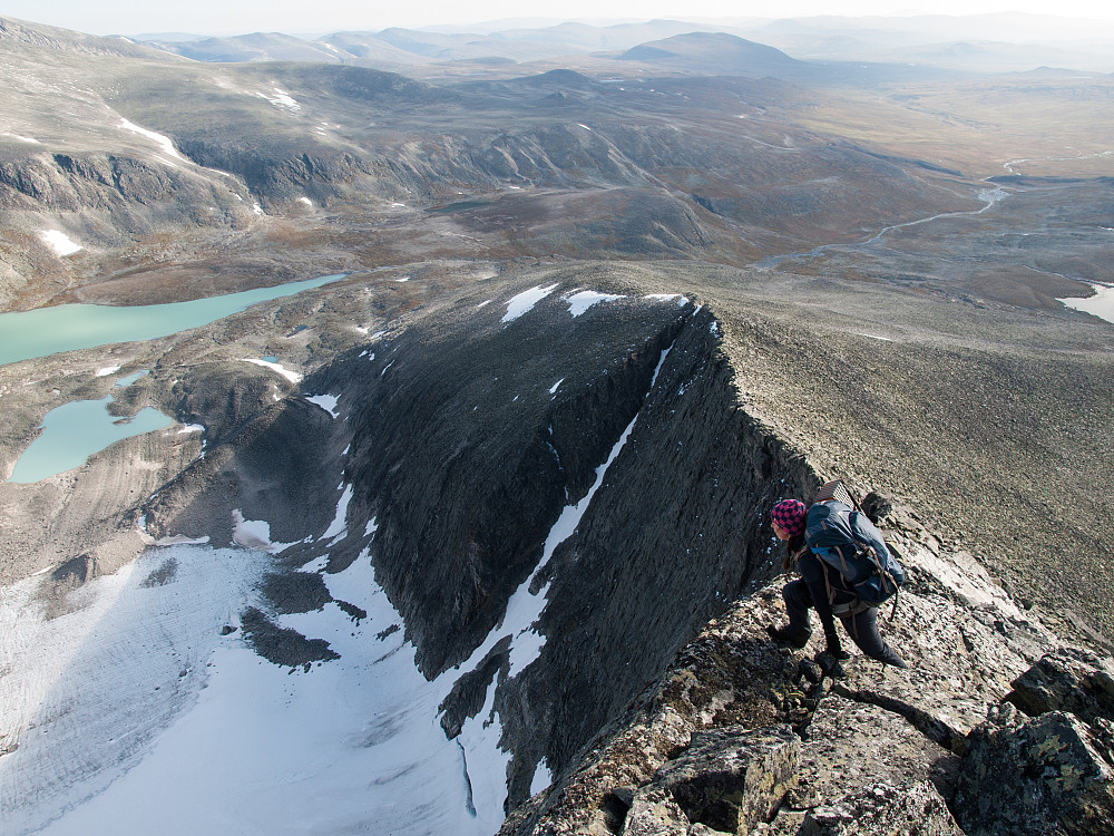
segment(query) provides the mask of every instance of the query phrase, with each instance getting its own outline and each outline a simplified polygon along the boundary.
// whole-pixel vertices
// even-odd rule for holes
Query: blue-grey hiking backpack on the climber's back
[[[906,582],[905,570],[886,547],[882,533],[866,514],[846,503],[820,502],[809,508],[804,542],[820,560],[834,566],[869,606],[878,606]]]

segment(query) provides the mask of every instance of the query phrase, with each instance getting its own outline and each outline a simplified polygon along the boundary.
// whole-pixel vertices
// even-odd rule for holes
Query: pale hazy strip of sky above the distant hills
[[[92,35],[254,31],[329,32],[378,30],[390,26],[472,23],[504,18],[585,20],[772,17],[768,1],[755,0],[0,0],[0,17],[77,29]],[[776,17],[808,14],[976,14],[994,11],[1054,13],[1114,19],[1108,0],[782,0]]]

